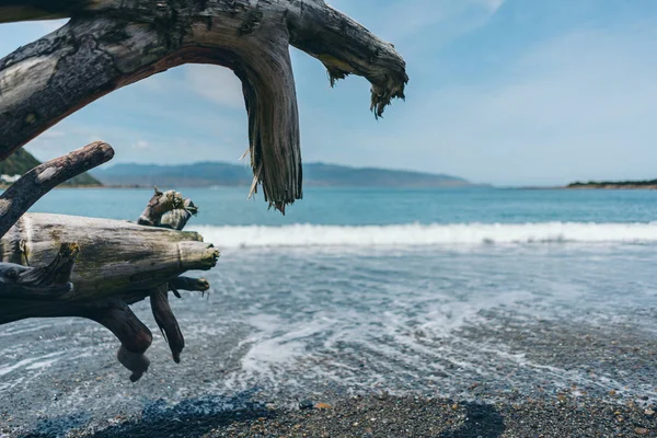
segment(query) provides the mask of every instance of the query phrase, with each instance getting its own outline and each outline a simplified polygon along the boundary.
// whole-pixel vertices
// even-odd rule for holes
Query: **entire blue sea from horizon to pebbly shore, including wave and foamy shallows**
[[[657,192],[308,188],[285,217],[245,187],[181,192],[221,251],[209,296],[172,298],[182,362],[146,302],[137,383],[93,322],[0,326],[8,434],[379,392],[657,401]],[[58,189],[32,211],[135,220],[150,196]]]

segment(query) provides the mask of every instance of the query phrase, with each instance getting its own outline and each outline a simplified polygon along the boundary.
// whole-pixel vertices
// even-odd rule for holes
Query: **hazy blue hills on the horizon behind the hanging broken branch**
[[[116,164],[94,171],[103,184],[114,186],[238,186],[253,178],[246,165],[200,162],[180,165]],[[307,186],[351,187],[452,187],[471,185],[468,181],[443,174],[395,171],[373,168],[309,163],[303,165]]]

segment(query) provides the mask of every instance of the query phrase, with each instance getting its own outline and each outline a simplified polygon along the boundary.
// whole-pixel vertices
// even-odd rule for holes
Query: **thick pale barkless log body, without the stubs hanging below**
[[[45,265],[56,256],[59,242],[77,242],[80,246],[71,276],[73,293],[48,303],[0,297],[0,324],[24,318],[74,315],[80,308],[110,299],[135,302],[187,270],[214,267],[219,256],[195,232],[110,219],[27,214],[0,240],[0,261]]]

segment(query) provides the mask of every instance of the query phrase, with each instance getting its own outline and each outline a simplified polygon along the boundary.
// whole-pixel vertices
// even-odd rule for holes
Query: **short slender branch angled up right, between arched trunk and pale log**
[[[112,147],[96,141],[37,165],[24,174],[0,196],[0,237],[46,193],[73,176],[112,160]]]

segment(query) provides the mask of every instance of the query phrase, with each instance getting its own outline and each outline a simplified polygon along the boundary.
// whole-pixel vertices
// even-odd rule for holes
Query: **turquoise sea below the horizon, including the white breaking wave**
[[[246,200],[244,187],[183,194],[200,207],[187,228],[221,250],[657,242],[650,191],[310,188],[285,217],[262,199]],[[32,210],[135,220],[150,196],[59,189]]]

